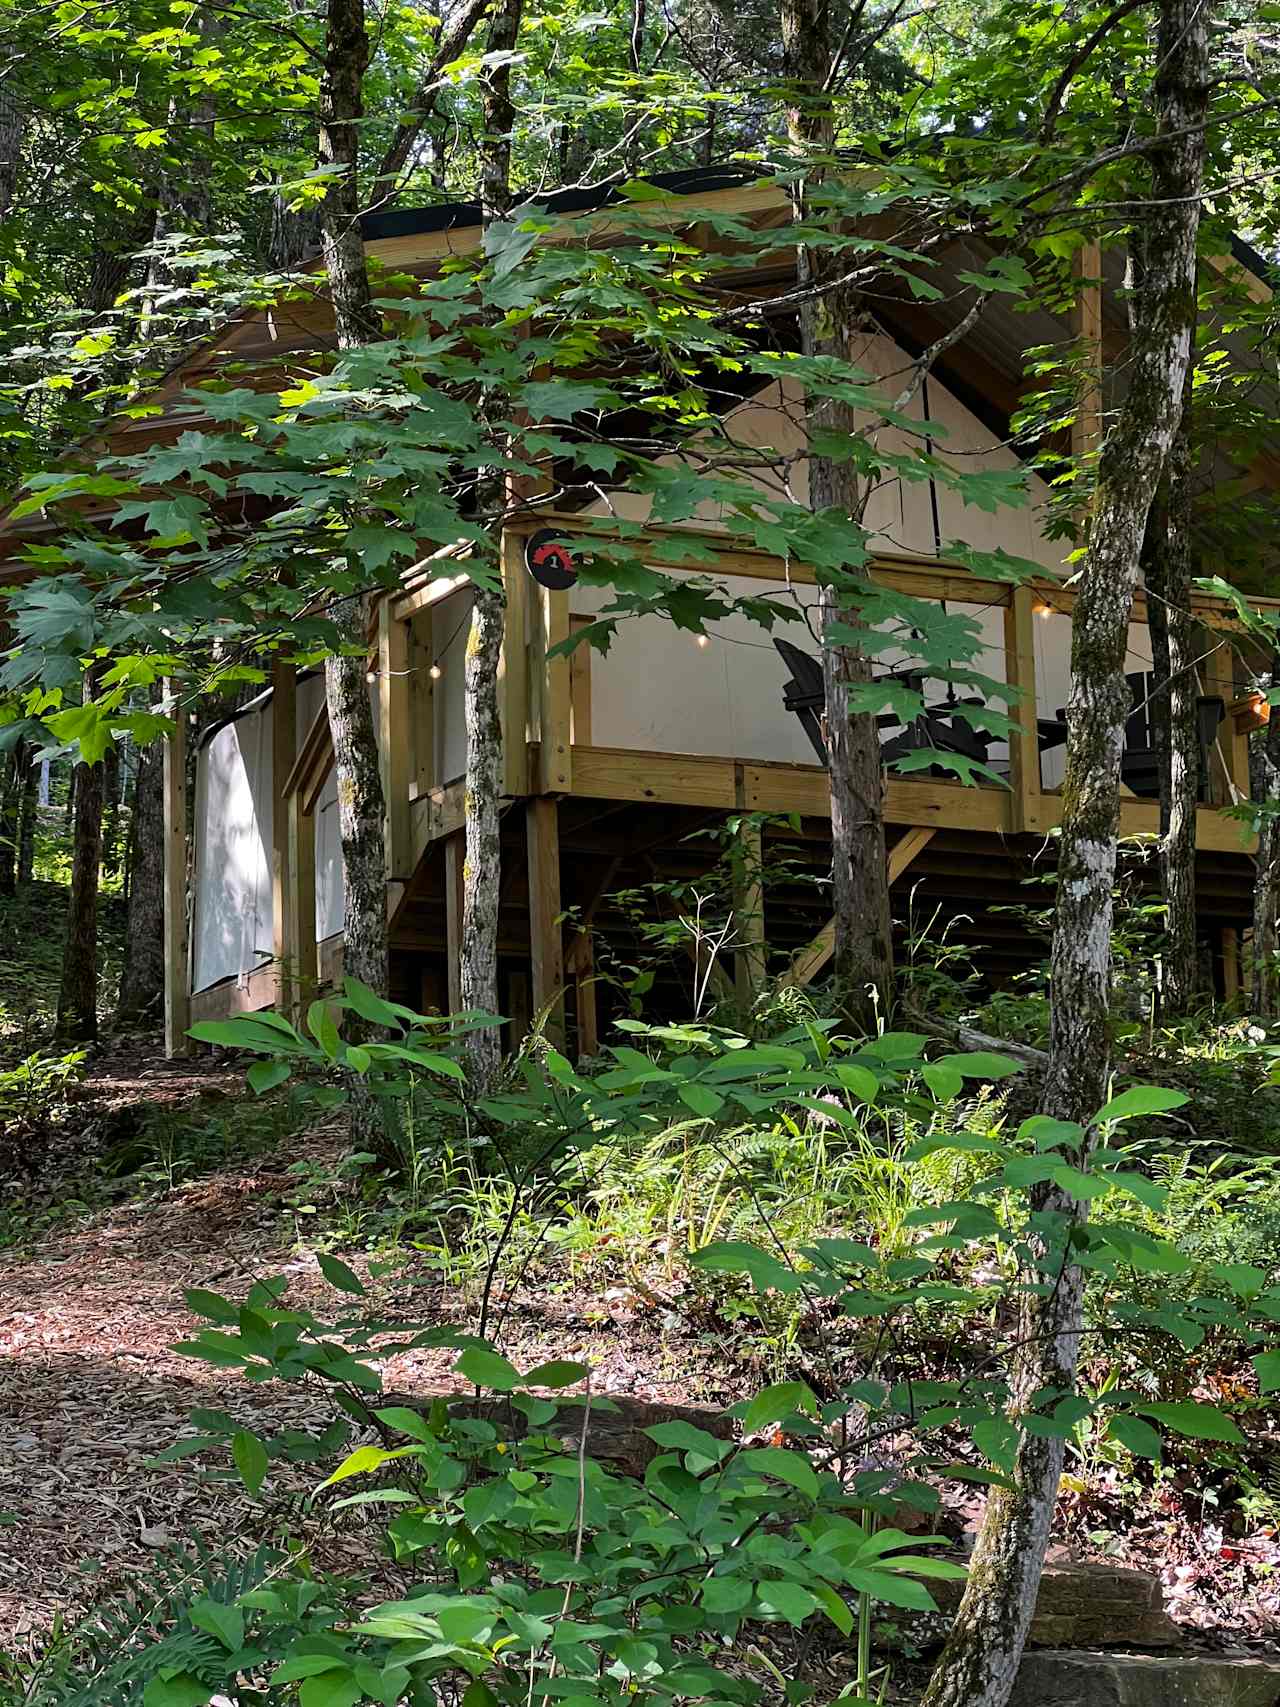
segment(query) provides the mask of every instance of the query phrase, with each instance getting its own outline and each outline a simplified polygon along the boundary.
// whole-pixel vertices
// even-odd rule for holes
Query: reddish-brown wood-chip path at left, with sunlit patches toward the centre
[[[145,1096],[159,1091],[177,1103],[239,1087],[239,1074],[155,1062],[142,1077],[121,1062],[94,1077],[108,1106],[137,1099],[143,1082]],[[338,1130],[292,1139],[287,1154],[104,1210],[44,1238],[38,1255],[0,1251],[0,1646],[118,1591],[171,1541],[193,1533],[213,1545],[230,1535],[261,1538],[282,1494],[309,1485],[302,1470],[273,1475],[263,1506],[239,1482],[215,1480],[213,1461],[148,1459],[189,1430],[193,1407],[265,1430],[331,1420],[309,1391],[254,1386],[172,1347],[196,1326],[188,1287],[239,1299],[254,1279],[287,1273],[290,1301],[331,1308],[314,1255],[294,1243],[287,1202],[297,1180],[287,1168],[299,1159],[331,1164],[340,1152]],[[365,1268],[362,1253],[343,1255]],[[474,1299],[411,1263],[379,1287],[377,1302],[394,1320],[474,1328]],[[602,1391],[734,1396],[715,1350],[684,1325],[664,1326],[652,1301],[626,1287],[599,1299],[531,1290],[515,1301],[503,1349],[526,1367],[585,1357]],[[454,1355],[394,1359],[384,1379],[403,1393],[447,1391]],[[340,1553],[346,1547],[346,1564],[355,1564],[357,1536],[333,1545]],[[329,1543],[326,1558],[343,1564]]]

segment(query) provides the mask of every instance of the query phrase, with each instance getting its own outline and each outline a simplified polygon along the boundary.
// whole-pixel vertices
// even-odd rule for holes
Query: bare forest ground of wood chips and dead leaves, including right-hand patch
[[[343,1154],[335,1118],[307,1135],[263,1130],[263,1104],[237,1101],[241,1070],[212,1058],[171,1063],[154,1041],[97,1052],[26,1203],[0,1224],[0,1647],[39,1640],[55,1615],[75,1617],[145,1577],[169,1543],[200,1536],[271,1540],[297,1533],[297,1495],[316,1471],[273,1468],[251,1499],[212,1459],[155,1465],[188,1430],[193,1407],[266,1430],[331,1420],[307,1391],[254,1386],[174,1350],[195,1318],[184,1290],[242,1297],[254,1279],[287,1275],[290,1301],[317,1311],[333,1294],[314,1248],[341,1250],[367,1273],[369,1251],[335,1243],[333,1226],[299,1214],[299,1180],[333,1176]],[[143,1120],[145,1116],[145,1120]],[[254,1127],[254,1120],[258,1127]],[[142,1125],[140,1125],[142,1121]],[[138,1132],[150,1133],[145,1142]],[[210,1147],[208,1132],[225,1145]],[[254,1133],[256,1137],[246,1137]],[[203,1133],[196,1166],[189,1145]],[[203,1147],[201,1147],[203,1145]],[[99,1197],[85,1186],[85,1152]],[[113,1162],[113,1157],[116,1159]],[[201,1161],[203,1157],[203,1161]],[[113,1166],[123,1178],[113,1176]],[[106,1188],[102,1190],[106,1183]],[[317,1193],[307,1188],[304,1197]],[[655,1282],[657,1285],[657,1282]],[[442,1277],[410,1248],[375,1282],[379,1311],[415,1325],[474,1330],[474,1285]],[[679,1287],[674,1290],[679,1292]],[[592,1364],[596,1389],[720,1407],[770,1379],[689,1299],[643,1282],[618,1284],[608,1263],[573,1261],[556,1284],[521,1285],[502,1347],[526,1367],[550,1357]],[[451,1391],[449,1350],[384,1367],[406,1395]],[[1188,1639],[1266,1646],[1280,1630],[1280,1545],[1265,1526],[1241,1548],[1212,1509],[1188,1524],[1186,1504],[1126,1511],[1106,1483],[1067,1487],[1058,1552],[1159,1572]],[[957,1495],[944,1529],[963,1543],[978,1497]],[[319,1538],[329,1569],[367,1565],[360,1516]]]

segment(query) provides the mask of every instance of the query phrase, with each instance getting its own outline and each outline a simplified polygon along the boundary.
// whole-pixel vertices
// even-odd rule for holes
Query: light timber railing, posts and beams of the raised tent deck
[[[538,526],[548,526],[539,517]],[[556,517],[563,531],[599,533],[599,524],[580,517]],[[532,526],[532,524],[529,524]],[[551,592],[532,582],[524,568],[524,538],[529,526],[512,527],[503,545],[507,580],[507,633],[502,659],[500,710],[503,724],[503,784],[509,799],[503,848],[503,912],[500,956],[505,966],[509,1007],[521,1019],[550,1005],[553,1016],[572,1017],[579,1043],[597,1036],[591,995],[591,932],[567,930],[572,910],[587,915],[596,929],[608,925],[602,881],[637,876],[628,865],[631,843],[654,850],[674,869],[686,860],[683,836],[691,823],[708,823],[717,814],[799,814],[806,836],[823,852],[829,819],[826,773],[817,765],[773,763],[749,756],[722,758],[689,753],[642,751],[592,743],[592,661],[580,647],[572,657],[548,659],[550,649],[570,633],[567,592]],[[695,539],[715,553],[710,572],[778,580],[788,574],[804,580],[802,567],[783,565],[763,551],[734,545],[713,529],[654,529],[645,536],[645,556],[654,563],[683,558]],[[456,999],[457,944],[461,942],[461,842],[464,785],[457,777],[437,777],[433,737],[433,683],[425,669],[418,635],[423,611],[456,591],[442,579],[440,553],[422,565],[398,596],[382,603],[377,630],[370,635],[372,667],[377,671],[379,737],[382,782],[389,811],[386,818],[387,918],[399,993],[410,1000],[451,1005]],[[1060,823],[1062,797],[1041,785],[1036,731],[1034,609],[1051,597],[1055,609],[1070,613],[1073,592],[1060,582],[1010,587],[976,580],[939,562],[886,558],[877,579],[923,597],[983,601],[1004,613],[1005,679],[1022,690],[1012,707],[1021,729],[1010,741],[1009,785],[966,787],[959,782],[889,777],[886,821],[891,843],[898,842],[896,879],[901,896],[911,884],[945,903],[951,913],[981,917],[988,947],[988,970],[1004,976],[1027,963],[1026,941],[1002,922],[998,908],[1017,893],[1019,876],[1038,847],[1051,842]],[[809,577],[811,579],[811,577]],[[1135,616],[1145,616],[1142,603]],[[1232,635],[1236,618],[1212,599],[1198,599],[1196,616],[1208,637],[1207,686],[1227,703],[1236,698]],[[292,707],[292,674],[278,667],[278,705]],[[780,708],[780,715],[783,714]],[[282,719],[273,746],[273,869],[275,869],[275,964],[237,982],[229,980],[191,999],[181,980],[167,999],[169,1036],[176,1041],[198,1012],[208,1017],[246,1007],[280,1004],[300,1011],[316,988],[340,973],[341,944],[314,941],[314,807],[331,766],[331,744],[323,714],[299,741]],[[1227,719],[1210,778],[1212,802],[1198,813],[1196,838],[1203,872],[1203,920],[1220,939],[1224,964],[1232,961],[1232,937],[1248,917],[1248,854],[1241,824],[1222,816],[1220,806],[1248,794],[1248,736]],[[171,797],[171,865],[184,862],[184,828],[177,823],[181,802]],[[1125,799],[1125,836],[1154,838],[1157,806]],[[606,833],[601,824],[609,824]],[[597,826],[592,830],[591,826]],[[609,835],[625,826],[623,845],[609,852]],[[905,840],[910,835],[910,842]],[[968,852],[966,852],[968,848]],[[910,852],[908,852],[910,850]],[[903,888],[908,886],[908,888]],[[790,980],[806,982],[824,964],[821,908],[795,896],[765,896],[770,917],[768,942],[790,958]],[[992,912],[992,906],[997,912]],[[186,964],[184,918],[177,901],[171,908],[171,953]],[[1026,932],[1021,932],[1026,937]],[[1031,949],[1033,954],[1039,947]],[[785,963],[783,963],[785,964]],[[585,971],[584,971],[585,968]],[[771,970],[778,968],[777,953]],[[763,971],[763,951],[753,951],[751,973]]]

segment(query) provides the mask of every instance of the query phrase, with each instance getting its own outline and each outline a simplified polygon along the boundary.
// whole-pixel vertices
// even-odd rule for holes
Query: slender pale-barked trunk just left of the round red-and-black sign
[[[521,32],[522,0],[498,0],[486,51],[510,55]],[[510,208],[510,133],[515,108],[510,97],[510,63],[497,58],[485,79],[485,137],[480,157],[480,196],[485,225]],[[483,483],[481,512],[495,517],[498,546],[505,512],[502,475]],[[495,553],[500,558],[500,551]],[[502,797],[502,725],[498,719],[498,661],[505,599],[476,587],[466,644],[466,859],[463,862],[463,947],[459,988],[464,1009],[498,1012],[498,883]],[[468,1036],[471,1077],[485,1089],[502,1060],[497,1026]]]

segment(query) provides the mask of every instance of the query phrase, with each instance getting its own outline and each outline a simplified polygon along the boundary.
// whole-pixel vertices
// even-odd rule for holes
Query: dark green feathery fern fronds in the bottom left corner
[[[266,1581],[283,1555],[259,1547],[247,1557],[212,1552],[198,1536],[155,1555],[150,1572],[67,1632],[32,1668],[26,1707],[138,1707],[162,1666],[203,1676],[225,1654],[196,1630],[189,1606],[234,1605]]]

